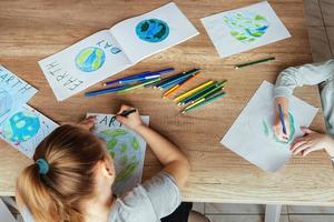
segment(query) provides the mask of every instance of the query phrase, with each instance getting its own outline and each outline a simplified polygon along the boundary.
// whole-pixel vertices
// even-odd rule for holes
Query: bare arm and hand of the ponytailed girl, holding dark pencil
[[[121,105],[119,113],[124,110],[131,109],[128,105]],[[149,144],[154,153],[164,165],[164,171],[171,174],[179,188],[186,183],[189,174],[189,162],[181,151],[163,135],[146,127],[137,112],[129,114],[127,118],[117,115],[117,120],[126,127],[139,133]]]

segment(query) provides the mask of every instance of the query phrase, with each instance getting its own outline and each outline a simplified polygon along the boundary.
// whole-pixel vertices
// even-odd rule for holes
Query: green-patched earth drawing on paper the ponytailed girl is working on
[[[98,133],[107,141],[107,149],[114,159],[117,176],[115,182],[130,178],[137,171],[141,148],[135,135],[124,129],[105,130]]]

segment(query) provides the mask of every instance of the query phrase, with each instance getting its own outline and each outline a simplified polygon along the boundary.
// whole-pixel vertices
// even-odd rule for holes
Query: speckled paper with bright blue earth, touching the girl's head
[[[57,123],[24,104],[0,124],[0,138],[32,158],[37,145],[56,128]]]

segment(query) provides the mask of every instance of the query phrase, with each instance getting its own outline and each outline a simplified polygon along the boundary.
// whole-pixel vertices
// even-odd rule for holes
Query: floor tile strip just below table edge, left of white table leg
[[[205,203],[206,214],[259,214],[264,212],[264,205],[258,204]]]

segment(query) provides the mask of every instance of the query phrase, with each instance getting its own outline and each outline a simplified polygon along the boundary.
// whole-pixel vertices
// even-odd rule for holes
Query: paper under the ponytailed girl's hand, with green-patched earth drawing
[[[117,120],[112,124],[114,114],[87,114],[90,115],[97,118],[94,133],[107,142],[107,150],[114,159],[117,176],[112,192],[121,195],[141,182],[146,142],[135,131],[120,127]],[[141,120],[148,125],[148,115],[141,115]]]

